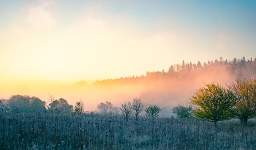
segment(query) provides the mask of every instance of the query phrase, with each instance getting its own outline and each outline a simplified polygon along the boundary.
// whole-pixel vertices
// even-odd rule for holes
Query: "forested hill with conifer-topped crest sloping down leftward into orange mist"
[[[185,63],[170,66],[168,71],[147,71],[142,76],[129,76],[125,78],[104,79],[96,81],[92,85],[111,85],[111,84],[148,84],[163,81],[177,81],[182,79],[200,79],[202,81],[226,81],[235,78],[252,78],[256,75],[256,58],[242,59],[234,58],[232,61],[219,58],[197,64]],[[216,79],[217,78],[217,79]],[[216,79],[216,80],[213,80]]]

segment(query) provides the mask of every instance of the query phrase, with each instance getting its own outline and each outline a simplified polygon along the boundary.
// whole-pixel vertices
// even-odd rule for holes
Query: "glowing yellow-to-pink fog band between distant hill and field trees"
[[[64,98],[74,105],[82,100],[86,111],[94,111],[97,104],[111,101],[114,106],[120,106],[124,101],[133,98],[142,98],[145,104],[157,104],[160,106],[175,106],[185,104],[189,97],[204,83],[217,82],[222,85],[235,81],[236,74],[227,70],[226,66],[216,66],[207,70],[196,69],[190,74],[185,72],[179,77],[173,78],[148,78],[138,83],[127,80],[124,84],[109,82],[86,86],[74,83],[53,83],[24,81],[23,83],[0,84],[0,98],[9,98],[12,95],[21,94],[36,96],[48,103],[49,94],[55,99]],[[246,74],[245,71],[244,74]],[[221,76],[219,76],[221,74]],[[250,73],[249,73],[250,74]],[[130,83],[131,82],[131,83]]]

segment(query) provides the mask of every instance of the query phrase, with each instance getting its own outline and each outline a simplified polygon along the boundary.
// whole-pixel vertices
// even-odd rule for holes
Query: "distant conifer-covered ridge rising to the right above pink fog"
[[[182,79],[186,76],[193,76],[198,73],[208,73],[213,70],[223,71],[225,70],[227,74],[233,74],[235,78],[251,78],[256,74],[256,58],[246,59],[242,57],[241,59],[234,58],[233,61],[228,61],[220,57],[214,61],[208,61],[206,63],[201,63],[198,61],[197,64],[186,63],[182,61],[181,64],[174,64],[170,66],[168,71],[147,71],[145,75],[142,76],[128,76],[125,78],[116,79],[103,79],[97,80],[92,85],[107,85],[107,84],[143,84],[150,81],[157,80],[170,80],[170,79]],[[82,81],[78,82],[83,83]]]

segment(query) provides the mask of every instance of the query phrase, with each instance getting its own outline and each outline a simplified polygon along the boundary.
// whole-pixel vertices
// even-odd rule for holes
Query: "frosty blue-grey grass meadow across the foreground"
[[[256,126],[238,121],[0,114],[0,149],[256,149]]]

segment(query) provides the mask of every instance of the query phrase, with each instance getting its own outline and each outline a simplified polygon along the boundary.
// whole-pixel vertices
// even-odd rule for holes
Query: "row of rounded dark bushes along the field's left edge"
[[[50,98],[53,98],[50,96]],[[53,113],[53,114],[71,114],[82,112],[82,102],[77,102],[75,107],[70,105],[66,99],[50,99],[50,104],[35,96],[11,96],[9,99],[0,99],[0,113]]]

